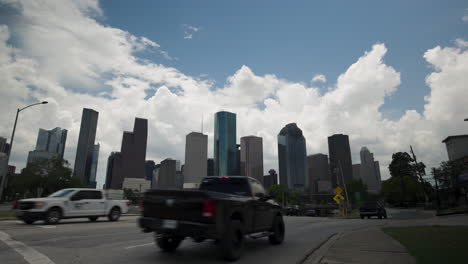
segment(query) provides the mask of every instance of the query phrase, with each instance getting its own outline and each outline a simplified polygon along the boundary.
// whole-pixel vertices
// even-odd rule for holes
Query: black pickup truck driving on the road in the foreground
[[[213,239],[226,260],[236,260],[246,235],[268,237],[274,245],[284,240],[280,206],[249,177],[206,177],[199,190],[149,190],[141,206],[138,224],[154,232],[163,251],[175,250],[186,237]]]

